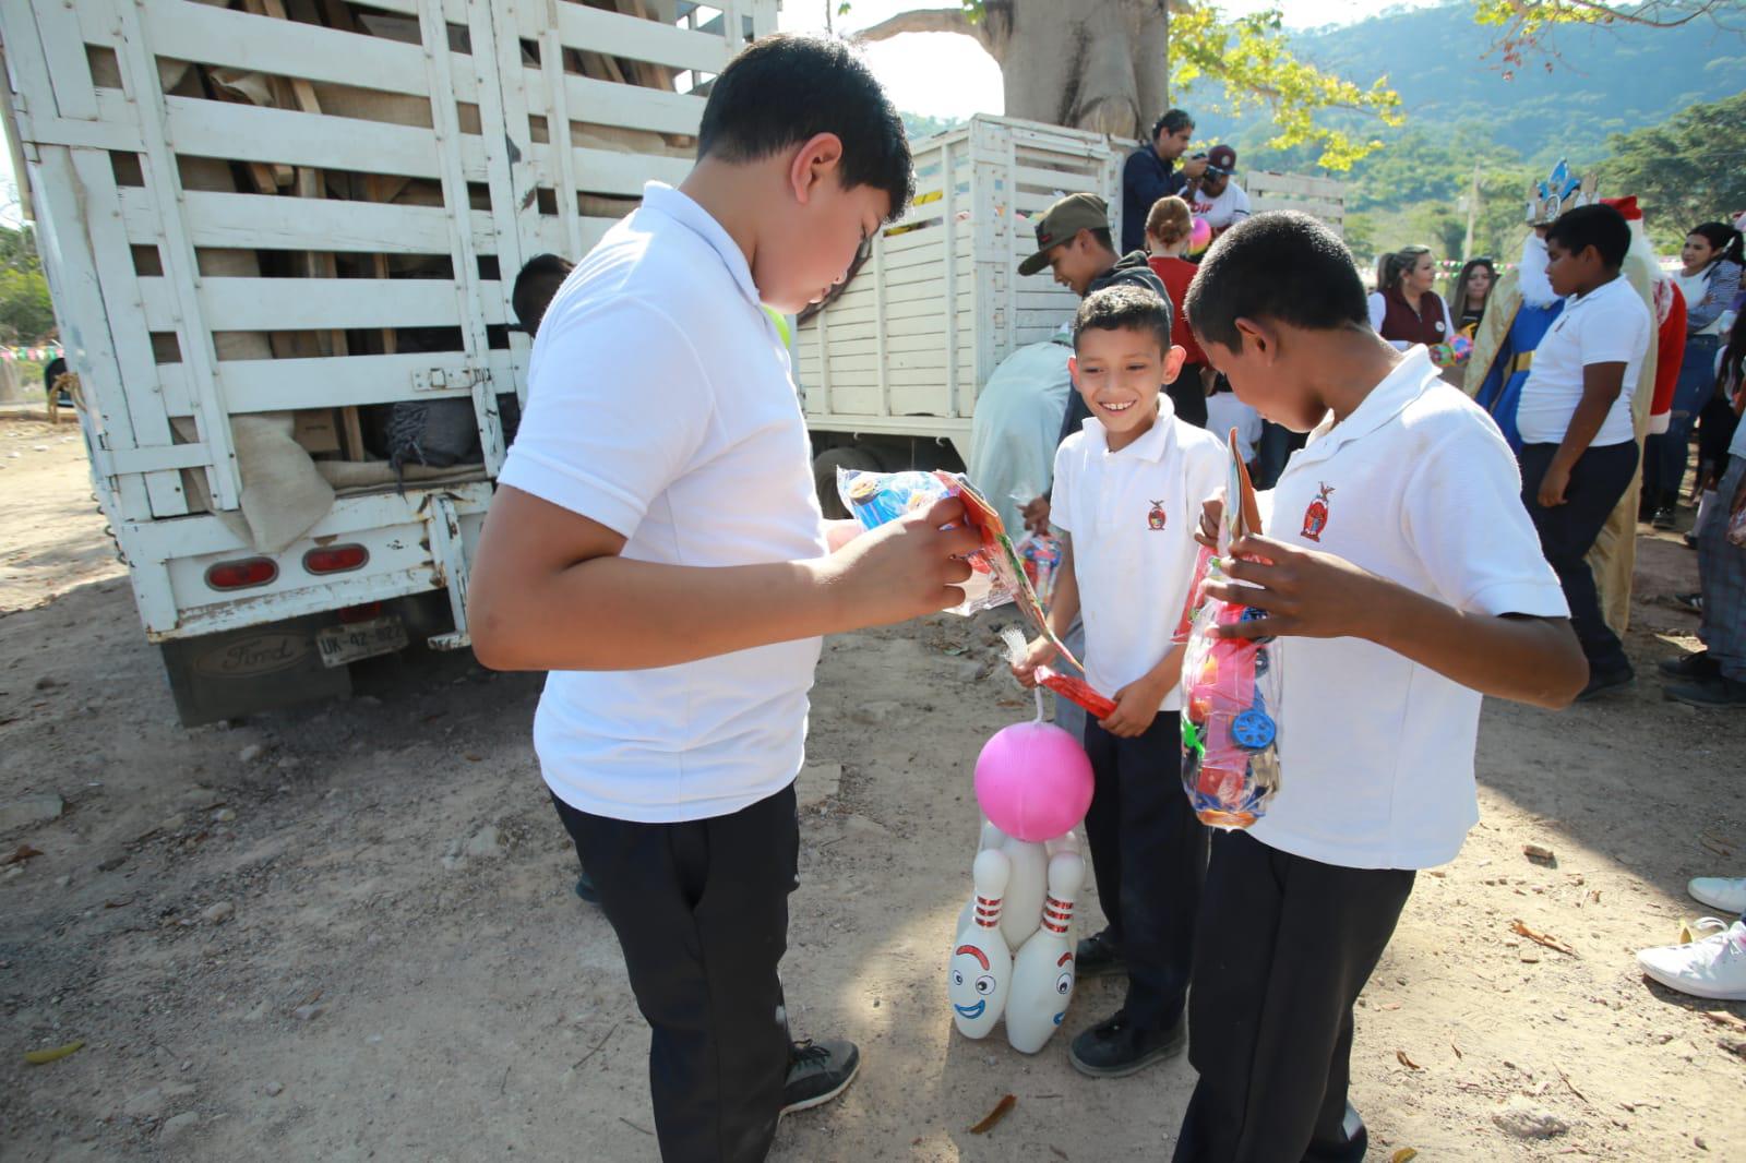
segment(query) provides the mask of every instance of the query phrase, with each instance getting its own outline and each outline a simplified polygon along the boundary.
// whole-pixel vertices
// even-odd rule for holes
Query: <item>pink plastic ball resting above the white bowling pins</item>
[[[1091,807],[1091,760],[1053,723],[1014,723],[976,756],[976,802],[1009,836],[1055,840]]]

